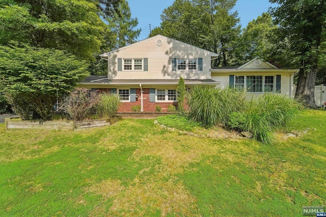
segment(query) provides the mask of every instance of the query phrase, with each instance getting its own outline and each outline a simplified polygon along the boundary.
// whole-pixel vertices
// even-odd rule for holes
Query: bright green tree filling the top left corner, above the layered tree
[[[10,40],[55,48],[92,59],[103,40],[96,2],[86,0],[0,0],[0,44]]]

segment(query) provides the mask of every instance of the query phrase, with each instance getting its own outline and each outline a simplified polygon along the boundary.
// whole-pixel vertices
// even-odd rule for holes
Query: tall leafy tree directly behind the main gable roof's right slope
[[[161,33],[167,37],[219,53],[215,66],[232,64],[233,41],[240,34],[236,0],[175,0],[161,15]]]

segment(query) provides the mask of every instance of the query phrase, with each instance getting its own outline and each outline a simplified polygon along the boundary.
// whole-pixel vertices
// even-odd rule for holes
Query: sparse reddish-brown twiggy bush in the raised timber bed
[[[95,91],[76,88],[63,100],[59,109],[68,113],[73,120],[84,120],[98,101],[99,97]]]

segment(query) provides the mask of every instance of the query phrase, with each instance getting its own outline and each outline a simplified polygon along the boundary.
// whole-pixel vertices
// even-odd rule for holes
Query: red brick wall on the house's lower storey
[[[99,91],[105,91],[98,89]],[[141,88],[136,88],[136,102],[121,102],[118,112],[131,112],[131,106],[140,105],[142,106],[141,100]],[[149,102],[149,88],[143,88],[143,111],[144,112],[155,112],[156,105],[161,107],[162,112],[168,111],[168,105],[174,105],[178,108],[177,102]]]

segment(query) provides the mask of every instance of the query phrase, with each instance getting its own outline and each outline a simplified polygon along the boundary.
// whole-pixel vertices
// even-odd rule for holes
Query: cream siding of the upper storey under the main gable
[[[162,41],[161,46],[156,45],[158,39]],[[148,71],[118,71],[118,58],[148,58]],[[172,71],[172,58],[203,58],[203,71]],[[211,60],[207,51],[164,37],[136,43],[108,56],[108,78],[115,79],[179,79],[181,76],[184,79],[210,79],[210,68]]]

